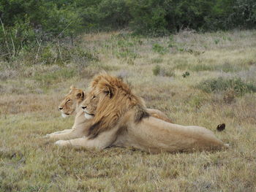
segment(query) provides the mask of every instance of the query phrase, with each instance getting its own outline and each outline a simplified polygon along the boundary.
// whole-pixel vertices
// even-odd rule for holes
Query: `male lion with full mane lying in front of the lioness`
[[[180,126],[152,117],[143,99],[116,77],[100,74],[94,78],[91,88],[81,104],[87,115],[94,115],[86,137],[60,140],[56,145],[99,149],[135,147],[150,153],[228,147],[206,128]]]

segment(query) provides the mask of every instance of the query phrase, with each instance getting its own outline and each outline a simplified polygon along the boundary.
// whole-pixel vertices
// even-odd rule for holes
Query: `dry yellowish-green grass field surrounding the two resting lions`
[[[256,191],[256,31],[162,38],[119,31],[77,42],[64,62],[56,55],[67,53],[50,46],[1,61],[0,191]],[[69,86],[86,89],[103,70],[123,77],[147,107],[211,129],[230,149],[152,155],[42,139],[71,128],[74,118],[58,111]]]

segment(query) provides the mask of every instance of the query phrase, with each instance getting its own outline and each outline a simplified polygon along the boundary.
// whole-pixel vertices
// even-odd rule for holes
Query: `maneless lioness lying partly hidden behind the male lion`
[[[67,118],[69,115],[76,114],[75,123],[71,129],[65,129],[64,131],[57,131],[52,134],[47,134],[46,137],[50,139],[65,140],[86,136],[86,133],[88,132],[92,122],[90,119],[94,118],[94,115],[86,114],[80,107],[80,104],[85,99],[85,97],[86,94],[83,92],[83,90],[75,88],[74,86],[70,87],[69,93],[61,101],[61,104],[59,104],[59,110],[61,111],[61,116],[63,118]],[[167,116],[159,110],[147,109],[147,112],[155,118],[171,122],[171,120],[168,119]],[[86,118],[84,115],[86,115]]]

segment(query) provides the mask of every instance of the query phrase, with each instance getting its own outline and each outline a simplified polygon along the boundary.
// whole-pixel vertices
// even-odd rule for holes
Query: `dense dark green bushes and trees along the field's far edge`
[[[0,0],[0,19],[1,59],[11,60],[41,41],[69,38],[73,43],[83,31],[131,28],[135,34],[163,36],[184,28],[255,28],[256,1]]]

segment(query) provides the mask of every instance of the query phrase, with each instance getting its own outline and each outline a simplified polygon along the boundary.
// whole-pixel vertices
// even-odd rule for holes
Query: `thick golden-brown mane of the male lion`
[[[129,85],[117,77],[99,74],[91,82],[91,88],[95,93],[101,95],[101,99],[95,112],[93,125],[89,129],[89,137],[97,137],[102,131],[116,126],[118,119],[132,108],[135,110],[135,123],[149,117],[145,101],[139,96],[135,96]]]

